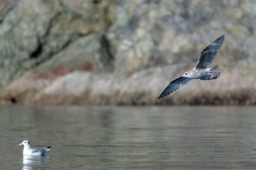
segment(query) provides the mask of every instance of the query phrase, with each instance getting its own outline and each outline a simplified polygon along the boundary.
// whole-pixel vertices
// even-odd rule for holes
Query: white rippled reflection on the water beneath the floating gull
[[[33,170],[37,165],[49,164],[49,156],[44,155],[23,155],[23,170]],[[33,166],[35,165],[35,166]]]

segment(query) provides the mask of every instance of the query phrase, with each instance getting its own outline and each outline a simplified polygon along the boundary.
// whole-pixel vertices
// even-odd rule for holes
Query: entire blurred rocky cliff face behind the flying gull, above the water
[[[256,104],[253,0],[2,0],[2,102]],[[214,81],[157,96],[221,34]]]

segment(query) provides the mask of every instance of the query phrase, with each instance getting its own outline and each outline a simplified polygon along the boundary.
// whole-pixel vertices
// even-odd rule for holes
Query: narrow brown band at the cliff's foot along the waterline
[[[80,96],[72,94],[38,94],[33,91],[23,91],[15,96],[17,103],[25,105],[256,105],[255,89],[240,89],[236,91],[219,91],[195,93],[194,91],[171,94],[163,99],[148,92],[90,94]],[[12,103],[14,96],[1,95],[3,104]]]

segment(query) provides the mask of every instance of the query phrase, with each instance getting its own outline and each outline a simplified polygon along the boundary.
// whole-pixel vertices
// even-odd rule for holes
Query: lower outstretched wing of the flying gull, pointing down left
[[[164,96],[167,96],[168,94],[176,91],[181,86],[186,85],[190,80],[192,79],[187,77],[177,77],[176,79],[172,80],[172,82],[170,82],[170,84],[164,89],[164,91],[157,99],[163,98]]]

